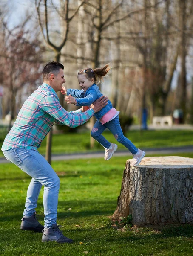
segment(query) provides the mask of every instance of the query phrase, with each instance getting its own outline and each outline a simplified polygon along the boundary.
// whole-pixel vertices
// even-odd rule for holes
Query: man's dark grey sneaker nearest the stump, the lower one
[[[43,230],[42,242],[56,241],[57,243],[73,243],[73,240],[65,237],[60,230],[61,226],[52,224],[51,227],[47,227]]]

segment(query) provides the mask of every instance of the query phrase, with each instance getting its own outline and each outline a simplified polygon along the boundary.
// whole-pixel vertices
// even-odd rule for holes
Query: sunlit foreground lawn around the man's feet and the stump
[[[193,157],[193,153],[178,154]],[[122,173],[128,157],[53,162],[60,177],[58,224],[74,244],[42,243],[41,233],[20,230],[30,177],[13,164],[0,169],[0,255],[192,256],[193,226],[116,229],[110,216],[116,209]],[[71,208],[71,210],[68,210]],[[37,213],[42,215],[43,189]]]

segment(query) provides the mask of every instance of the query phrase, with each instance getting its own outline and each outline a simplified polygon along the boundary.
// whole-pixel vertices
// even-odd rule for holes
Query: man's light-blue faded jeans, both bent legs
[[[57,220],[58,193],[60,179],[51,165],[37,151],[25,148],[11,148],[3,151],[4,156],[23,172],[32,177],[28,186],[23,216],[31,216],[37,207],[37,199],[44,186],[43,205],[45,214],[44,227],[51,227]]]

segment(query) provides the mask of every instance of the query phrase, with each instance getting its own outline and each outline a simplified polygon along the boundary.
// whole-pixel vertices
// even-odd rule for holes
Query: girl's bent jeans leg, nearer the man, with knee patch
[[[99,121],[94,124],[94,127],[91,131],[91,136],[97,140],[104,148],[109,148],[111,143],[102,136],[102,132],[105,131],[105,125],[102,125]]]

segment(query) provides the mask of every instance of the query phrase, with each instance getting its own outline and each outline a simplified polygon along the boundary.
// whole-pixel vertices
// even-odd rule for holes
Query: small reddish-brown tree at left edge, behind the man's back
[[[9,90],[9,109],[11,121],[16,115],[16,96],[19,90],[26,85],[34,84],[41,76],[40,56],[41,49],[38,40],[26,41],[28,32],[23,28],[14,28],[4,34],[0,51],[1,83]]]

